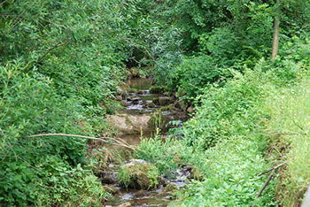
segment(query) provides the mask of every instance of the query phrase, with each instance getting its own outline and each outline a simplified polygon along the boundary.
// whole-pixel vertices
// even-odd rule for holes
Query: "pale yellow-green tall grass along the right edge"
[[[291,88],[284,88],[266,100],[270,114],[269,134],[281,134],[280,141],[289,143],[288,161],[279,182],[279,196],[284,206],[298,206],[310,185],[310,80],[304,78]]]

